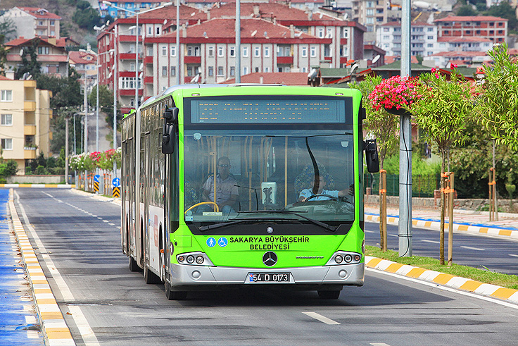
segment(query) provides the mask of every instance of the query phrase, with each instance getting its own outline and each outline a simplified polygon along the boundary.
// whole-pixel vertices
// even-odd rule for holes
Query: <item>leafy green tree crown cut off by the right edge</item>
[[[495,44],[488,52],[493,68],[486,68],[476,114],[497,143],[518,151],[518,65],[507,44]]]

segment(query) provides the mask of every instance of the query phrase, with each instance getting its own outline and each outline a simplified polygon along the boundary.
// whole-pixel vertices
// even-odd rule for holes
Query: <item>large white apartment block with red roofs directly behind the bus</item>
[[[203,26],[218,18],[225,20]],[[182,83],[219,82],[234,78],[234,18],[235,4],[216,5],[206,11],[180,6],[180,67],[176,66],[175,6],[139,15],[139,37],[144,38],[139,39],[137,49],[135,18],[119,18],[97,37],[100,54],[116,47],[115,56],[102,54],[99,57],[101,84],[113,88],[116,82],[122,111],[129,111],[136,104],[136,85],[141,101],[143,97],[151,97],[163,87],[175,84],[177,73]],[[277,3],[243,3],[241,18],[241,26],[247,20],[255,20],[253,23],[258,25],[246,27],[241,32],[241,75],[255,70],[309,72],[311,66],[340,67],[351,59],[363,58],[365,27],[352,21]],[[248,56],[243,56],[245,54]],[[114,80],[115,73],[111,73],[114,59],[118,61],[117,80]],[[139,78],[136,82],[137,68]]]

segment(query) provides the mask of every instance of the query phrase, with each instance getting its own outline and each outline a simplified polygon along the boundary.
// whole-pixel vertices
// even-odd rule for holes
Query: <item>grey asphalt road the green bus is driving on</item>
[[[197,292],[169,301],[120,250],[119,206],[17,189],[18,214],[77,345],[510,345],[518,307],[378,271],[340,299],[316,292]],[[26,218],[24,218],[24,214]],[[32,232],[32,229],[35,232]],[[37,233],[37,236],[34,235]],[[513,341],[514,340],[514,341]]]

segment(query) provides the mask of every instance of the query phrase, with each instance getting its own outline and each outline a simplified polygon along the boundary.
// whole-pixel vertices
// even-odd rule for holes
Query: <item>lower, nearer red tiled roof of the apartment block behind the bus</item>
[[[207,37],[207,38],[233,38],[235,37],[236,20],[231,18],[214,18],[202,22],[200,24],[191,25],[187,27],[187,37]],[[274,25],[263,19],[241,19],[241,39],[250,38],[267,38],[282,39],[291,38],[289,27],[283,25]],[[295,38],[310,38],[317,37],[297,31]],[[164,37],[176,37],[176,32],[172,32]]]

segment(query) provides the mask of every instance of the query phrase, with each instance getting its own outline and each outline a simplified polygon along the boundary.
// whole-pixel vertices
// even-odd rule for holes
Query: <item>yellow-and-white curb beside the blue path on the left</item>
[[[18,217],[14,206],[13,191],[9,192],[9,209],[13,230],[22,253],[23,266],[34,297],[39,325],[42,326],[45,344],[49,346],[75,346],[70,329],[63,319],[63,314],[56,303],[49,282],[46,280],[42,266],[36,257],[36,253],[30,244],[29,237]]]

